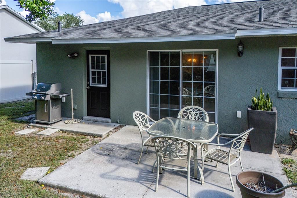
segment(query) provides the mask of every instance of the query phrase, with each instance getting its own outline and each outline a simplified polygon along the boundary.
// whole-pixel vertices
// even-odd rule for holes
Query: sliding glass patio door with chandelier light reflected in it
[[[149,51],[148,111],[154,120],[200,106],[216,121],[217,51]]]

